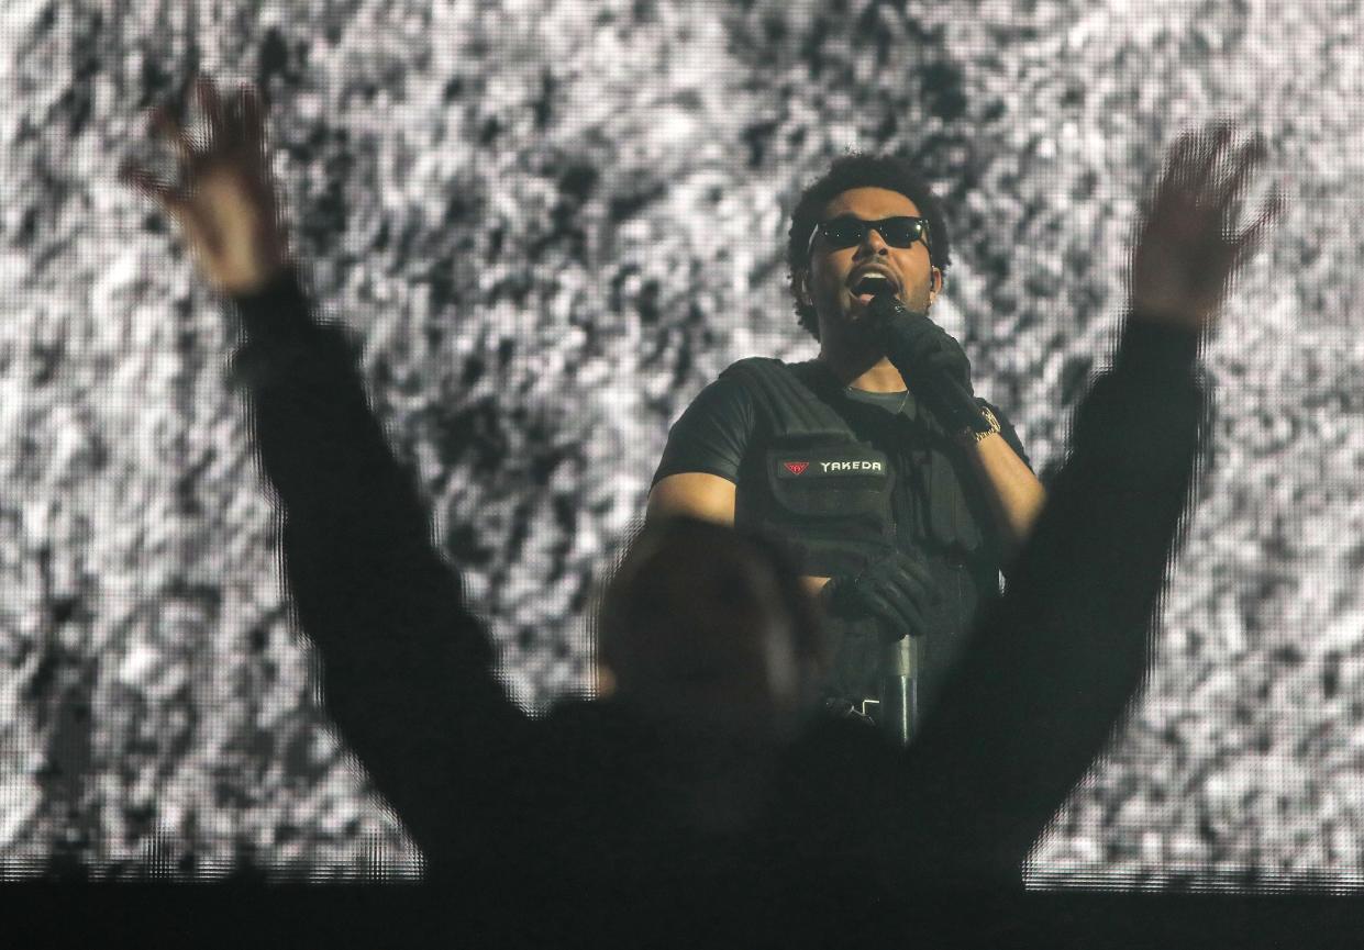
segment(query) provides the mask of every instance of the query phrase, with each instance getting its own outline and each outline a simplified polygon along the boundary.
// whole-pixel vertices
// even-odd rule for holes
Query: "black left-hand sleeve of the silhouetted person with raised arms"
[[[282,508],[284,568],[326,705],[432,864],[472,846],[521,716],[366,401],[352,346],[285,275],[235,301],[233,376]]]

